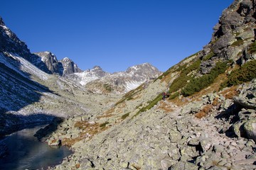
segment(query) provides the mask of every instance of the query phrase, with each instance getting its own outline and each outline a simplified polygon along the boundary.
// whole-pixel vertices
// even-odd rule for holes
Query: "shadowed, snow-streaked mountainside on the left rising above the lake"
[[[82,86],[50,75],[58,72],[58,61],[52,53],[43,52],[42,57],[31,54],[2,18],[0,40],[0,137],[55,117],[87,113],[86,101],[77,103],[72,95],[76,91],[82,91],[78,96],[90,94]]]

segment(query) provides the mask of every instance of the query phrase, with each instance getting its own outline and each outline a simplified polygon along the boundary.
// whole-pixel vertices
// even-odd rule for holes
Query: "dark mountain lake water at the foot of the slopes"
[[[43,126],[21,130],[4,139],[9,154],[0,159],[0,169],[46,169],[72,153],[66,147],[57,149],[38,142],[33,135],[40,128]]]

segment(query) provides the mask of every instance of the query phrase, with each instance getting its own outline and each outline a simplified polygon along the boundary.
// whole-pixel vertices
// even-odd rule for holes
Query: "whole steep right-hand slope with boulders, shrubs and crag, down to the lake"
[[[203,50],[41,136],[75,151],[52,169],[255,169],[255,21],[255,1],[235,0]]]

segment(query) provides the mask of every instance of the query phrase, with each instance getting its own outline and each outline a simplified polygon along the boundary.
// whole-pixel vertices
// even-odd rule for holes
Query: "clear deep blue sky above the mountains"
[[[80,69],[164,72],[210,42],[233,0],[1,0],[0,16],[31,52],[69,57]]]

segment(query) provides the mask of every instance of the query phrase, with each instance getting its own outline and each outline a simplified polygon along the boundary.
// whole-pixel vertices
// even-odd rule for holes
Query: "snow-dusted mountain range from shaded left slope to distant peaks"
[[[74,115],[73,110],[76,109],[73,107],[79,106],[77,96],[70,98],[74,91],[85,91],[83,94],[92,94],[94,91],[124,93],[161,74],[151,64],[134,66],[137,70],[133,72],[110,74],[100,67],[83,72],[67,57],[58,60],[52,52],[31,53],[26,43],[6,27],[1,17],[0,64],[1,135],[26,124],[52,120],[55,116]],[[110,79],[112,81],[108,82]],[[117,84],[120,79],[122,83]],[[90,87],[86,87],[85,84],[89,82]],[[63,109],[59,109],[59,106]],[[65,107],[73,109],[65,111]],[[81,104],[80,111],[76,113],[85,113],[87,110],[87,106]]]

